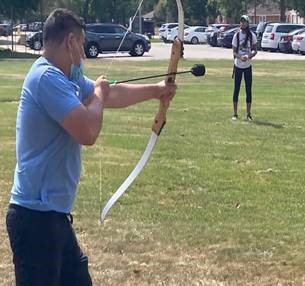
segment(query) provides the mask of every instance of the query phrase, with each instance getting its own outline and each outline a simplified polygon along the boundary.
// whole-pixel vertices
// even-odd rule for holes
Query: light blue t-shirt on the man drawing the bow
[[[47,59],[35,61],[24,80],[17,113],[17,164],[10,203],[40,211],[71,211],[81,145],[60,123],[93,88],[86,77],[76,84]]]

